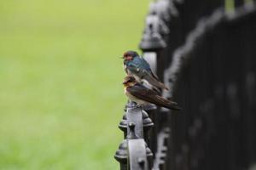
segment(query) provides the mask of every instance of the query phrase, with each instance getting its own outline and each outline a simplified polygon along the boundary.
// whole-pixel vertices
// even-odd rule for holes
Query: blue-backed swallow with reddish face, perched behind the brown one
[[[124,68],[127,75],[136,78],[137,82],[147,81],[156,88],[169,90],[163,82],[160,82],[157,76],[151,71],[148,62],[140,57],[135,51],[127,51],[122,57],[124,59]]]

